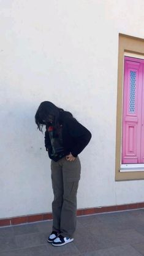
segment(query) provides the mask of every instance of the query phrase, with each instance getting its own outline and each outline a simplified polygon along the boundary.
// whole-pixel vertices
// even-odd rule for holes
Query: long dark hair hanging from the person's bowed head
[[[37,109],[37,112],[35,115],[37,128],[40,131],[42,131],[42,128],[44,125],[50,125],[50,123],[48,123],[48,116],[51,115],[53,116],[53,126],[55,127],[55,131],[58,130],[58,120],[59,120],[60,112],[65,112],[67,115],[69,115],[69,117],[73,118],[70,112],[64,111],[64,109],[56,107],[56,105],[50,101],[44,101],[40,103],[39,108]]]

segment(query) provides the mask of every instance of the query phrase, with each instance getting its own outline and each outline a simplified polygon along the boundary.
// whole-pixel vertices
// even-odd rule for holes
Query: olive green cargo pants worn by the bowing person
[[[51,160],[51,180],[54,200],[53,231],[64,237],[72,237],[77,221],[77,189],[80,180],[80,159],[72,162],[66,157],[55,162]]]

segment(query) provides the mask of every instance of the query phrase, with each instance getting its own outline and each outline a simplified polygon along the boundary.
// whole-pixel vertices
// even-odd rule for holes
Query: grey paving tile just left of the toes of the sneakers
[[[15,236],[18,248],[40,246],[47,244],[48,233],[20,234]]]

